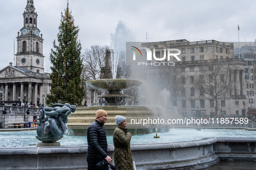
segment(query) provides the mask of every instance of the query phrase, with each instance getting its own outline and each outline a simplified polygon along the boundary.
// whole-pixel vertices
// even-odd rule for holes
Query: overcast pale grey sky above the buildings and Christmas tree
[[[26,0],[0,0],[0,69],[13,61],[13,39],[23,27]],[[66,0],[34,0],[37,27],[43,34],[45,72],[51,72],[49,54],[57,40]],[[118,20],[126,23],[137,41],[216,40],[252,42],[256,39],[255,0],[69,0],[80,28],[82,52],[91,45],[110,45]]]

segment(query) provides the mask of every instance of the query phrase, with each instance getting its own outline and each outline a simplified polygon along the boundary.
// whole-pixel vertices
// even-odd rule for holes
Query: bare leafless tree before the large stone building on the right
[[[215,100],[215,116],[218,113],[218,97],[225,96],[233,87],[233,76],[236,66],[231,65],[228,59],[208,60],[204,69],[195,76],[195,86],[200,91],[200,95],[209,94]],[[239,80],[238,80],[239,81]]]

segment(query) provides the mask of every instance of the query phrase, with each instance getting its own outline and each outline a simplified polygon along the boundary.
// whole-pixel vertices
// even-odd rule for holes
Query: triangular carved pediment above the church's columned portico
[[[0,70],[0,79],[26,77],[26,76],[29,76],[29,75],[11,66],[7,66],[4,69]]]

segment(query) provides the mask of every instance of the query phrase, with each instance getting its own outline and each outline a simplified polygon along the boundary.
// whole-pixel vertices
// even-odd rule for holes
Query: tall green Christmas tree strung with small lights
[[[58,32],[58,44],[53,42],[50,60],[52,63],[51,94],[47,94],[46,104],[69,103],[81,105],[84,87],[81,87],[81,44],[78,41],[78,26],[69,11],[68,4],[65,15],[62,14]]]

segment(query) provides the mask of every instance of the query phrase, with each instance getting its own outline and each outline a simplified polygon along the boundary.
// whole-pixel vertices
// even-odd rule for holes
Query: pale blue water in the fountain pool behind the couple
[[[166,133],[158,133],[159,139],[154,139],[155,133],[147,135],[133,135],[131,144],[170,143],[191,141],[203,138],[255,138],[256,131],[243,129],[170,129]],[[38,140],[36,131],[0,132],[0,148],[7,147],[36,147]],[[59,140],[62,146],[87,145],[86,136],[64,135]],[[113,145],[113,136],[107,136],[108,145]]]

